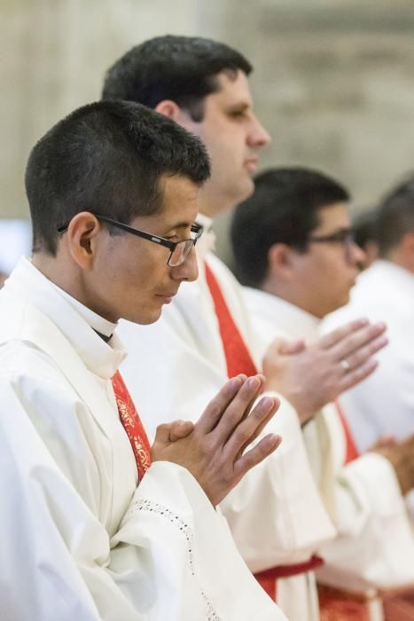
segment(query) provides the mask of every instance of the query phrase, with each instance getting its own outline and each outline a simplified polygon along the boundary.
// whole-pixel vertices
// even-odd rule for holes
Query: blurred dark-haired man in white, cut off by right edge
[[[414,431],[414,177],[397,185],[379,204],[377,213],[379,258],[363,271],[350,302],[328,320],[363,312],[382,317],[389,329],[389,346],[379,356],[379,370],[369,381],[342,399],[361,450],[379,436],[402,439]],[[413,504],[414,507],[414,504]]]

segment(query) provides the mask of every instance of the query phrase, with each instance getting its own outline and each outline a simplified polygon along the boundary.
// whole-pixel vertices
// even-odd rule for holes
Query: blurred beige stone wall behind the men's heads
[[[114,59],[166,33],[221,39],[253,61],[273,136],[262,167],[330,172],[355,208],[414,169],[412,0],[1,0],[0,23],[0,217],[27,217],[35,140],[99,97]]]

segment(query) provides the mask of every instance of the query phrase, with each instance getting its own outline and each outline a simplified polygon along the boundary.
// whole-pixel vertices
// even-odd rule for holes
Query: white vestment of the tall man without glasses
[[[199,279],[181,286],[173,302],[164,307],[160,320],[152,326],[120,325],[120,334],[129,343],[122,373],[133,397],[137,400],[139,396],[140,414],[152,433],[162,417],[196,420],[227,379],[223,342],[205,278],[205,259],[240,333],[247,343],[252,336],[241,287],[225,265],[208,252],[208,237],[209,233],[199,242]],[[222,504],[238,549],[254,572],[307,561],[316,548],[335,535],[309,471],[297,413],[285,399],[282,401],[265,429],[283,436],[281,446],[251,470]],[[317,619],[312,573],[280,579],[277,603],[287,617]]]

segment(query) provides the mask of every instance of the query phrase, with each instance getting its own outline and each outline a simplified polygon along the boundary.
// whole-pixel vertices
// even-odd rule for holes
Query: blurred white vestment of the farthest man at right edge
[[[414,433],[413,311],[414,274],[379,260],[360,274],[349,303],[324,320],[326,329],[356,317],[387,324],[389,343],[376,355],[378,369],[340,399],[361,450],[379,436],[401,440]]]

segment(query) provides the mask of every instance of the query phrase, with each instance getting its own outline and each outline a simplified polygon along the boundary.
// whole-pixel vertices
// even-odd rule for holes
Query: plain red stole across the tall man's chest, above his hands
[[[215,303],[215,314],[218,319],[220,335],[222,337],[224,355],[227,363],[227,374],[234,377],[238,373],[246,375],[255,375],[257,369],[254,365],[253,358],[247,350],[246,343],[236,326],[234,319],[231,317],[229,307],[222,290],[215,278],[215,275],[206,265],[206,279],[210,293]]]

